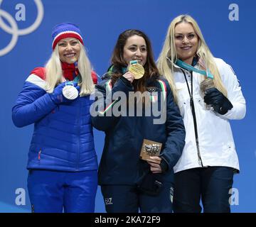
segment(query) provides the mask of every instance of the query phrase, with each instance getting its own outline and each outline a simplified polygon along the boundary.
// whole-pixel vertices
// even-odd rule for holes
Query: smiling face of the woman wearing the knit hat
[[[77,62],[80,50],[81,48],[76,38],[63,38],[58,42],[58,52],[62,62],[68,64]]]

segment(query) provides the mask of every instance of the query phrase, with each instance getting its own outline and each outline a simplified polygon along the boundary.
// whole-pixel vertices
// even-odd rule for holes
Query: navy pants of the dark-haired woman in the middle
[[[173,184],[165,183],[157,196],[140,192],[131,185],[102,185],[107,213],[170,213],[172,212]]]

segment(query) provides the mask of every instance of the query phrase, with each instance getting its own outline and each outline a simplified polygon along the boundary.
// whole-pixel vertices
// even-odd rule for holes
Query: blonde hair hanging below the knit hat
[[[91,94],[95,91],[95,85],[91,77],[91,65],[87,57],[86,50],[82,43],[80,45],[80,55],[78,57],[78,70],[80,72],[80,96]],[[53,50],[50,59],[46,63],[46,90],[52,93],[57,84],[63,82],[63,70],[61,68],[60,56],[58,53],[58,44]]]

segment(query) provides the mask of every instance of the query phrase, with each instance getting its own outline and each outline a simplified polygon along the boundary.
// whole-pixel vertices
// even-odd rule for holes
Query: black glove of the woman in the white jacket
[[[203,99],[207,105],[213,106],[214,111],[218,112],[218,114],[226,114],[228,110],[233,108],[228,98],[215,87],[207,89]]]

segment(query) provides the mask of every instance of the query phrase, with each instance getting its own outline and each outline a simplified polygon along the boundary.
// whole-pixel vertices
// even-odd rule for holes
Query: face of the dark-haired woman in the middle
[[[129,65],[131,60],[138,60],[139,64],[145,65],[146,55],[146,42],[142,36],[132,35],[127,38],[123,53],[124,62],[126,62],[127,65]]]

